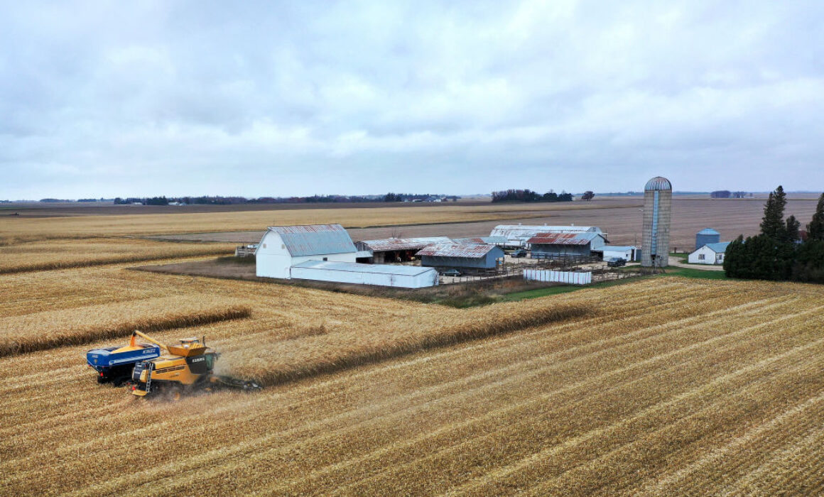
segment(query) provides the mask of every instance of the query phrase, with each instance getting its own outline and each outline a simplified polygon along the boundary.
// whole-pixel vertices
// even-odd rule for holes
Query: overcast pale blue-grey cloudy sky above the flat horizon
[[[824,2],[0,0],[0,199],[824,190]]]

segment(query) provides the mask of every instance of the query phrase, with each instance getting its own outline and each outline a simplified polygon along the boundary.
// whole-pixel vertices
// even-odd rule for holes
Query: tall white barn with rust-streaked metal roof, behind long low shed
[[[270,226],[255,251],[255,274],[291,277],[289,269],[307,260],[352,262],[358,250],[339,224]]]

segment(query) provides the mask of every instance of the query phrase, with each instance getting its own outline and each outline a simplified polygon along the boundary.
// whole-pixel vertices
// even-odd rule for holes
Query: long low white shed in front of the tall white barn
[[[438,271],[411,265],[373,265],[307,260],[292,267],[293,279],[372,284],[397,288],[424,288],[438,284]]]

